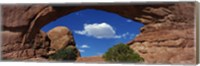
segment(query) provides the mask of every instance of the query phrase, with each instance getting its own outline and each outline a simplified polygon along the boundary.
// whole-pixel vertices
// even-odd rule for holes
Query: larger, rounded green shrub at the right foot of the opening
[[[117,44],[110,48],[103,58],[109,62],[142,62],[144,61],[137,53],[125,44]]]

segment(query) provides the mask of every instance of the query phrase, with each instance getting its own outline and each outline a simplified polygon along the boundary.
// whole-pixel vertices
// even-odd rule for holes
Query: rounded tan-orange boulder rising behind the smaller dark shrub
[[[72,33],[67,27],[57,26],[50,30],[47,34],[49,39],[51,40],[51,50],[57,51],[69,45],[75,46]]]

